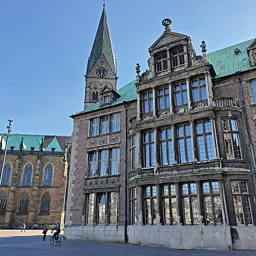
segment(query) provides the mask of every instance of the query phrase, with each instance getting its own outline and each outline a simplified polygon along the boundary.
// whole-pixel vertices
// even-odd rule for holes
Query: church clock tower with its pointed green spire
[[[104,5],[91,55],[87,63],[84,109],[100,101],[100,91],[103,88],[116,91],[117,80],[116,59],[113,54]]]

